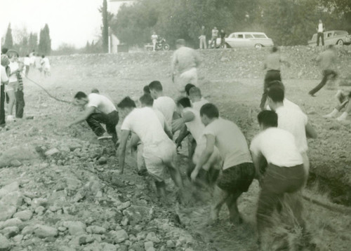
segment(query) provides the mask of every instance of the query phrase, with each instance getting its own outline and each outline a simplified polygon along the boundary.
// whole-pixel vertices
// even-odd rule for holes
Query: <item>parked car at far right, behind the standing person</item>
[[[324,32],[324,45],[338,45],[343,46],[351,43],[351,35],[345,31],[329,31]],[[319,39],[319,44],[322,44],[321,39]],[[308,41],[309,46],[317,46],[317,33],[313,34],[312,39]]]

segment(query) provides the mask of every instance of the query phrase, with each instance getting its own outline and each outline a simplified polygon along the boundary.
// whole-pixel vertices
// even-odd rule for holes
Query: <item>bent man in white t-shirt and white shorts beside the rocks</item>
[[[117,105],[124,116],[121,126],[121,143],[119,147],[119,168],[124,172],[126,143],[129,135],[135,133],[144,145],[143,157],[147,172],[154,178],[157,191],[162,199],[166,198],[166,171],[173,182],[183,189],[179,170],[174,165],[176,145],[166,135],[156,113],[151,107],[135,108],[130,97],[124,98]]]

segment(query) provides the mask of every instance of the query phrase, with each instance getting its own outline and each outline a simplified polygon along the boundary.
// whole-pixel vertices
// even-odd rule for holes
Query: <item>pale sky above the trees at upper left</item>
[[[0,0],[0,34],[5,36],[11,22],[12,29],[27,27],[39,36],[47,23],[53,50],[62,43],[84,47],[100,36],[100,6],[102,0]]]

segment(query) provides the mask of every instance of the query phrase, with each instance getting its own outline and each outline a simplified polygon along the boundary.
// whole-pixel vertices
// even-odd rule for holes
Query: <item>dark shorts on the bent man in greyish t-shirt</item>
[[[253,163],[241,163],[223,170],[218,177],[217,185],[220,189],[229,192],[246,192],[249,190],[253,177],[255,177]]]

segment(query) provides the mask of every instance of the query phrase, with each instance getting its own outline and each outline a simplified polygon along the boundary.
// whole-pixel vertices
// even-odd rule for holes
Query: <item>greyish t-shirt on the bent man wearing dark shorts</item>
[[[223,170],[241,163],[252,163],[244,135],[232,121],[218,118],[204,129],[204,135],[216,137],[216,147],[224,161]]]

